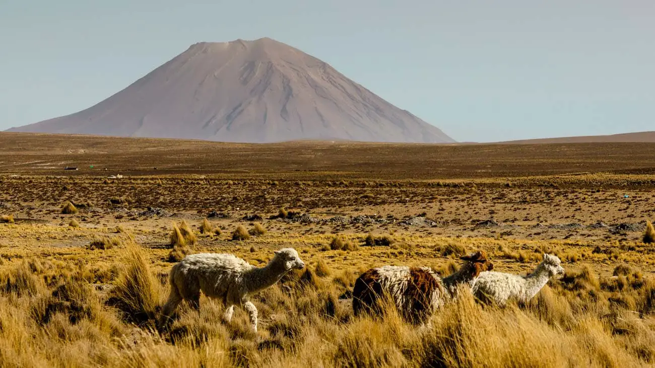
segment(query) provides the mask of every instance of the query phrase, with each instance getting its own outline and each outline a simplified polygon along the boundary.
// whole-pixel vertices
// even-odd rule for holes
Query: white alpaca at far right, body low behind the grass
[[[510,298],[525,303],[532,299],[550,278],[564,273],[564,268],[560,264],[561,261],[557,256],[544,253],[544,261],[528,276],[482,272],[474,282],[472,291],[481,301],[493,301],[501,306]]]

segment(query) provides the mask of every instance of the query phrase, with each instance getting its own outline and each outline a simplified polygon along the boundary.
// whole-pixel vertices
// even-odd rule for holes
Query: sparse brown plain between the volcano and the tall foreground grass
[[[165,272],[172,222],[187,219],[196,229],[214,211],[229,215],[210,218],[224,233],[201,238],[196,250],[253,263],[291,244],[334,268],[440,265],[452,257],[439,244],[455,242],[493,251],[499,270],[528,272],[534,255],[555,247],[571,256],[567,267],[589,263],[608,273],[628,262],[654,272],[652,249],[639,242],[655,217],[654,173],[655,143],[247,145],[2,133],[0,214],[16,223],[0,224],[0,255],[109,262],[115,250],[84,247],[122,225]],[[124,177],[109,178],[116,174]],[[67,200],[82,204],[79,213],[61,213]],[[144,213],[149,207],[165,213]],[[270,219],[279,208],[313,222]],[[244,217],[254,214],[269,232],[231,242],[229,233],[252,227]],[[81,228],[67,227],[72,218]],[[333,234],[362,243],[369,232],[396,238],[396,246],[321,250]]]

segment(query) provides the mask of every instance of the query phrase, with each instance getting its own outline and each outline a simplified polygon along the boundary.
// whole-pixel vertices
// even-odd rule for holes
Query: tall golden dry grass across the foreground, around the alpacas
[[[295,239],[295,246],[307,249],[300,246],[302,241]],[[472,249],[484,244],[461,241]],[[266,261],[275,248],[261,244],[265,249],[244,249],[242,254]],[[519,246],[502,240],[493,246],[497,249],[498,244]],[[367,249],[360,256],[370,258],[388,248],[360,249]],[[331,257],[340,251],[330,252],[327,256],[340,272],[327,271],[326,253],[309,248],[301,257],[308,266],[315,263],[317,272],[312,267],[290,274],[254,297],[261,326],[257,336],[245,312],[237,308],[234,321],[226,324],[221,322],[220,303],[204,297],[199,314],[182,304],[170,329],[158,332],[155,320],[168,280],[153,268],[158,257],[153,259],[151,251],[134,242],[126,242],[122,256],[105,265],[112,270],[104,280],[107,291],[94,287],[86,263],[26,259],[0,271],[0,361],[3,366],[70,367],[655,363],[655,282],[637,268],[618,265],[615,276],[599,276],[591,268],[569,271],[525,306],[487,306],[464,293],[434,315],[432,327],[417,329],[402,322],[393,308],[384,320],[352,316],[349,301],[339,298],[352,287],[364,263],[348,266]]]

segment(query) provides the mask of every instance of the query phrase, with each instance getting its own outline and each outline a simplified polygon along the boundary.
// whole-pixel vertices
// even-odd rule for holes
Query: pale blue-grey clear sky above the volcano
[[[0,130],[271,37],[458,141],[655,130],[652,0],[1,0]]]

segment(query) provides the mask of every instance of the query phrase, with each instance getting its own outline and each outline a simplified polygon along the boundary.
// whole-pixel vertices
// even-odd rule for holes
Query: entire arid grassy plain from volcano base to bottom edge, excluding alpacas
[[[0,365],[652,365],[654,193],[655,143],[0,133]],[[170,330],[155,328],[183,223],[196,238],[185,253],[261,266],[275,249],[299,251],[307,268],[255,297],[256,335],[243,310],[224,323],[204,297],[200,314],[183,304]],[[233,240],[240,225],[248,239]],[[449,274],[477,249],[502,272],[528,274],[546,252],[567,273],[527,305],[464,295],[432,329],[352,315],[348,291],[367,268]]]

